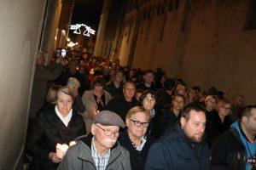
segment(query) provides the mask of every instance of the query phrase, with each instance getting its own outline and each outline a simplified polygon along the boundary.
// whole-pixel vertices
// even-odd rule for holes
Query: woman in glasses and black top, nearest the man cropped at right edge
[[[211,145],[224,131],[228,130],[231,125],[230,111],[231,104],[226,99],[219,99],[215,107],[216,113],[212,114],[212,120],[209,125],[209,132],[207,133],[208,144]]]

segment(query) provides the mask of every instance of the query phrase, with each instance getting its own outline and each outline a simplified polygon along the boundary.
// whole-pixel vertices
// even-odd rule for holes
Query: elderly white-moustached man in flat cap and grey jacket
[[[130,170],[129,152],[117,142],[119,127],[125,127],[125,123],[113,111],[97,113],[91,133],[76,140],[58,169]]]

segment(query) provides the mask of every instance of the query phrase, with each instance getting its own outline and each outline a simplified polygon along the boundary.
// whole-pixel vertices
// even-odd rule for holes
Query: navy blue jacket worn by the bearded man
[[[210,168],[210,150],[207,144],[191,144],[180,123],[159,141],[152,144],[145,169],[154,170],[207,170]]]

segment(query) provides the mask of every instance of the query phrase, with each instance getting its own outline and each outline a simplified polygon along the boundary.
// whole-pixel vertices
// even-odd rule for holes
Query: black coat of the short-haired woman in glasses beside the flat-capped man
[[[125,147],[130,153],[131,169],[142,170],[144,169],[146,158],[148,156],[148,150],[151,144],[154,143],[154,139],[150,136],[147,137],[147,142],[143,146],[143,150],[138,151],[134,148],[129,138],[127,131],[121,134],[119,137],[119,143]]]

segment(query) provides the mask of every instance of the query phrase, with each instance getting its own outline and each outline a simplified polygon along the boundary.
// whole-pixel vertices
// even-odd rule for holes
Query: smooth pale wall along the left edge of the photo
[[[29,98],[47,1],[0,5],[0,169],[20,169]]]

